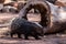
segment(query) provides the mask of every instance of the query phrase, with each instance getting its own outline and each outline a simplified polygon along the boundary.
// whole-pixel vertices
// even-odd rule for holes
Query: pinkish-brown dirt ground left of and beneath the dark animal
[[[15,16],[18,16],[18,14],[0,13],[0,34],[8,30],[9,21]],[[33,37],[24,40],[18,38],[16,36],[12,38],[10,36],[0,35],[0,44],[66,44],[66,34],[44,35],[42,40],[35,40]]]

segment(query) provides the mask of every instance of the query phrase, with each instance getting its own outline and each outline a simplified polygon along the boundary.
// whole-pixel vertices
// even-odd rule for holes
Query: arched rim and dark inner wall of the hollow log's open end
[[[31,9],[34,9],[34,10],[38,10],[40,13],[41,13],[41,21],[40,21],[40,24],[42,26],[50,26],[50,23],[51,23],[51,10],[50,10],[50,7],[48,4],[43,1],[33,1],[33,2],[28,2],[25,4],[25,7],[21,10],[21,16],[24,18],[24,19],[28,19],[28,13]]]

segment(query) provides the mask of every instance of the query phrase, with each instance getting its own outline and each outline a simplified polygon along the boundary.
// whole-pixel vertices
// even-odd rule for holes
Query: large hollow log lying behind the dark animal
[[[53,33],[64,31],[66,29],[65,28],[66,18],[63,19],[63,16],[61,16],[62,14],[58,11],[58,7],[44,0],[31,0],[20,11],[19,13],[20,16],[28,19],[26,14],[31,9],[37,9],[40,11],[41,13],[40,24],[44,26],[44,34],[53,34]]]

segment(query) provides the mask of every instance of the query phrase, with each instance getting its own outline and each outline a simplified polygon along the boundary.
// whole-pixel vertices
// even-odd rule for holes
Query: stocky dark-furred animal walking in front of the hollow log
[[[18,34],[19,38],[21,38],[21,34],[23,34],[25,40],[28,40],[28,36],[34,36],[38,40],[38,36],[43,36],[43,28],[28,20],[18,18],[11,23],[11,36],[13,36],[13,34]]]

